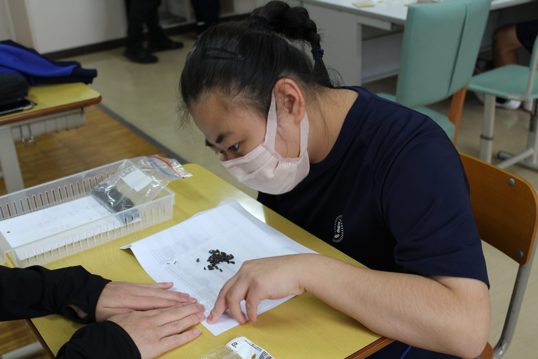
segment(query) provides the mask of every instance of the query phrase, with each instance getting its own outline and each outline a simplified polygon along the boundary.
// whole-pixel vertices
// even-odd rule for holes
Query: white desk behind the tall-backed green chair
[[[398,74],[407,6],[416,0],[302,0],[322,32],[323,61],[336,69],[349,86]],[[482,51],[491,49],[497,27],[538,18],[536,0],[493,0]],[[520,58],[528,57],[522,51]]]

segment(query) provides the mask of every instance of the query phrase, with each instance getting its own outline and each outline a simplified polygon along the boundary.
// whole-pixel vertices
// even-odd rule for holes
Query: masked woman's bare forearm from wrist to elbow
[[[313,256],[316,268],[306,272],[305,290],[374,332],[463,357],[476,357],[483,349],[490,326],[484,283],[481,287],[475,279],[457,278],[469,281],[469,290],[455,291],[443,277],[374,271]]]

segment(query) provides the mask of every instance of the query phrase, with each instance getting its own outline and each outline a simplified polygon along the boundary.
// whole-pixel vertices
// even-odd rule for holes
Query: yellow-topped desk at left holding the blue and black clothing
[[[32,109],[0,116],[0,166],[8,193],[24,188],[15,141],[82,126],[85,108],[101,102],[101,95],[83,83],[31,86]]]

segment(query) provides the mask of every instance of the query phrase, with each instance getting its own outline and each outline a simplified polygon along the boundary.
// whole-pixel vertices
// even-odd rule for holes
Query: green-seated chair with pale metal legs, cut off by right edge
[[[527,98],[538,98],[538,79],[536,79],[536,66],[538,66],[538,38],[534,41],[533,53],[530,56],[530,65],[506,65],[491,71],[473,76],[469,82],[469,90],[485,94],[484,124],[480,136],[480,159],[491,163],[493,152],[493,122],[495,119],[495,98],[502,97],[508,100],[525,101]],[[529,135],[527,149],[518,154],[500,151],[498,157],[504,159],[497,164],[506,168],[513,164],[538,170],[538,131],[536,131],[537,109],[530,115]]]

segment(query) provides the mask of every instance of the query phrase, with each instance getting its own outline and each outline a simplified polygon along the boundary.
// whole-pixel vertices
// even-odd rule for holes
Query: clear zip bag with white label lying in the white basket
[[[90,193],[111,213],[118,213],[152,201],[169,182],[191,176],[175,159],[136,157],[126,159]]]

